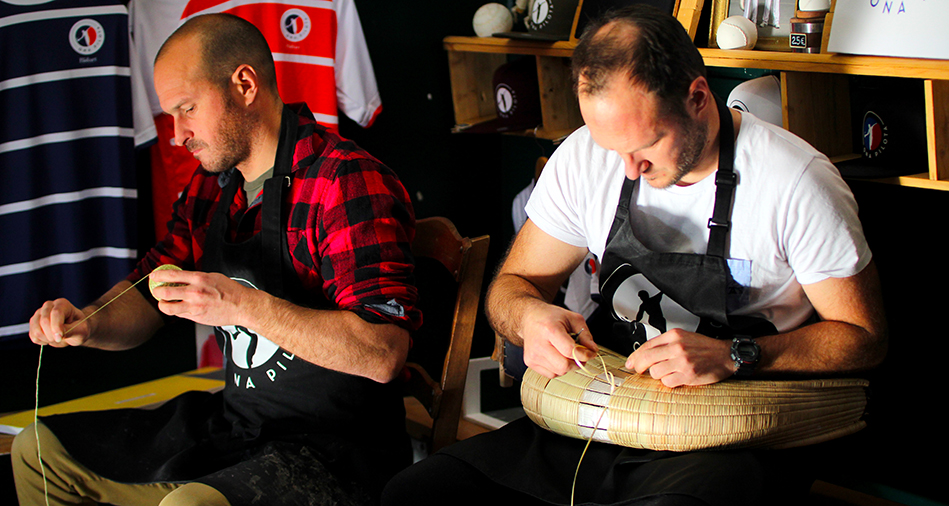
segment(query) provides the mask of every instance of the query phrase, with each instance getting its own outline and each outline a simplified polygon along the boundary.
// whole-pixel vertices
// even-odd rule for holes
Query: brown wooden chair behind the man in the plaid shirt
[[[413,335],[406,394],[425,407],[432,426],[429,432],[412,423],[407,398],[406,428],[413,437],[428,441],[431,452],[457,440],[488,242],[488,236],[461,237],[446,218],[417,223],[412,254],[424,323]]]

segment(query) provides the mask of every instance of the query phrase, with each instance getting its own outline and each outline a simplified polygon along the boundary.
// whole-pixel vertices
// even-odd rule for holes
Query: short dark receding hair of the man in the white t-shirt
[[[607,25],[615,26],[599,33]],[[625,75],[655,93],[665,112],[676,116],[685,114],[692,81],[706,76],[702,55],[682,24],[647,4],[610,10],[591,21],[573,52],[571,69],[578,95],[596,95],[614,75]]]

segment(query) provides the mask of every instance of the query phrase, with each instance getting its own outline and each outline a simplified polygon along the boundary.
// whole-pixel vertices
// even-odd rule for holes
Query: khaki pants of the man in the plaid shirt
[[[217,490],[201,483],[128,484],[108,480],[90,471],[69,456],[59,439],[42,422],[37,422],[40,451],[45,464],[40,468],[34,427],[23,429],[13,440],[11,460],[20,506],[42,506],[48,494],[50,506],[107,503],[160,506],[229,506]]]

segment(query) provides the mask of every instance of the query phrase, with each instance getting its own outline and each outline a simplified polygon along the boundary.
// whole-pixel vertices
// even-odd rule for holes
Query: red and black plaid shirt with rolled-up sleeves
[[[422,319],[408,253],[415,235],[408,193],[391,169],[351,141],[302,116],[300,124],[305,128],[299,129],[284,205],[289,206],[290,256],[304,288],[322,290],[339,309],[367,321],[417,329]],[[175,203],[168,235],[139,262],[129,281],[166,263],[201,270],[205,236],[226,177],[195,171]],[[247,204],[244,192],[236,192],[228,210],[229,241],[260,231],[262,206]]]

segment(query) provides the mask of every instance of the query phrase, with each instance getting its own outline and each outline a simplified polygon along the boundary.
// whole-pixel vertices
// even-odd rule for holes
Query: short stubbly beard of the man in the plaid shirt
[[[223,97],[224,114],[218,130],[217,155],[201,161],[201,167],[211,173],[224,172],[250,158],[251,141],[260,118],[250,111],[242,109],[227,97]],[[208,143],[192,140],[186,147],[193,151],[204,149],[208,152]]]

